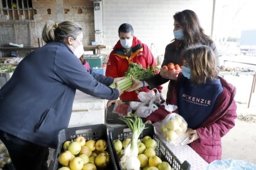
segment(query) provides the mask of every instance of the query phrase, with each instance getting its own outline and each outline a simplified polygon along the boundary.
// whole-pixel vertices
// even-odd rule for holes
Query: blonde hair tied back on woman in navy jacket
[[[50,20],[46,22],[43,28],[42,38],[46,43],[53,41],[65,42],[69,36],[76,39],[81,31],[82,28],[77,23],[65,21],[57,24]]]

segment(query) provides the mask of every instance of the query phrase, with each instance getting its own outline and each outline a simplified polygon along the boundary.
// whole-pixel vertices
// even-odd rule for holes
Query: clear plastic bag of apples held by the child
[[[175,142],[178,137],[183,136],[187,131],[187,123],[182,116],[172,113],[163,121],[161,126],[161,136],[167,142]]]

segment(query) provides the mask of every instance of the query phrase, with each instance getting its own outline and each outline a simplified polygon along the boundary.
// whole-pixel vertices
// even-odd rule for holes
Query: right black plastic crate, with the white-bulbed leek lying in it
[[[160,137],[155,134],[155,127],[151,124],[146,124],[146,129],[143,130],[142,134],[140,134],[139,139],[142,139],[143,136],[150,136],[152,139],[156,140],[157,147],[155,148],[156,155],[161,158],[162,161],[168,162],[173,169],[190,169],[190,164],[187,161],[181,163],[177,159],[177,157],[169,150],[168,147],[163,143]],[[109,131],[109,138],[112,146],[112,150],[114,153],[114,158],[117,163],[117,168],[122,169],[121,165],[119,164],[119,160],[117,157],[116,149],[114,148],[113,140],[120,139],[121,141],[126,139],[127,137],[132,136],[132,132],[130,131],[129,127],[126,125],[116,126],[116,127],[108,127]]]

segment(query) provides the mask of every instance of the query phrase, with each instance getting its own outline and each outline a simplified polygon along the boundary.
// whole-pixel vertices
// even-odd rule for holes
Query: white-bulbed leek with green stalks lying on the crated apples
[[[132,116],[132,118],[120,118],[127,124],[130,130],[132,130],[132,140],[124,149],[124,156],[122,156],[120,164],[122,169],[139,170],[140,161],[137,158],[139,153],[137,142],[143,129],[145,129],[145,124],[143,123],[142,119],[137,117],[135,114],[130,114],[130,116]]]

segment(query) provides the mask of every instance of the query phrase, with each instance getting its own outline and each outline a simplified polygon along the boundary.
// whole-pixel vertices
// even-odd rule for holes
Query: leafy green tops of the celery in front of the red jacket
[[[147,69],[143,68],[142,65],[139,65],[137,63],[130,62],[129,68],[124,74],[127,78],[130,78],[131,76],[134,76],[135,79],[139,80],[145,80],[147,78],[151,78],[155,75],[155,71],[157,71],[158,68],[156,67],[149,67]]]

